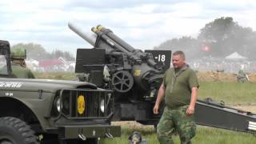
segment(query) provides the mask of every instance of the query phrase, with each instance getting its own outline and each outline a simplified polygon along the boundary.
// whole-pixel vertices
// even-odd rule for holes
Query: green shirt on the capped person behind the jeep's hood
[[[17,78],[34,78],[34,74],[30,69],[26,67],[19,66],[16,63],[11,64],[12,74]]]

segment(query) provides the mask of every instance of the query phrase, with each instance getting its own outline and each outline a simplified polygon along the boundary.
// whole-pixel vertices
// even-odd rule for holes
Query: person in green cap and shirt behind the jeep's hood
[[[31,70],[26,68],[26,50],[14,49],[10,53],[12,74],[16,78],[34,78]]]

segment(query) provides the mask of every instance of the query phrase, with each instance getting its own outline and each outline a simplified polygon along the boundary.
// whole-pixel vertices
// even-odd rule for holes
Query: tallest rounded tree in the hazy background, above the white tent
[[[225,57],[234,51],[248,57],[250,45],[255,39],[254,33],[251,28],[239,26],[233,18],[222,17],[207,23],[200,30],[198,41],[210,46],[208,54],[214,57]]]

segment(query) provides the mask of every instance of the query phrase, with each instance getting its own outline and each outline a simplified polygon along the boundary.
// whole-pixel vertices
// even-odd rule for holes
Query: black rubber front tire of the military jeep
[[[39,144],[30,126],[14,117],[0,118],[0,138],[2,137],[10,138],[14,144]]]

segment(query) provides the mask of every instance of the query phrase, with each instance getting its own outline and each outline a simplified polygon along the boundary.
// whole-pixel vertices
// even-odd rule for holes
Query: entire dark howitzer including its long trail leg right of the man
[[[84,33],[69,23],[70,29],[89,42],[93,49],[78,49],[75,71],[102,88],[114,90],[114,120],[158,122],[153,106],[164,72],[170,67],[170,50],[136,50],[103,26]],[[163,106],[161,106],[163,108]],[[256,114],[234,109],[211,100],[198,100],[195,122],[222,129],[256,132]]]

